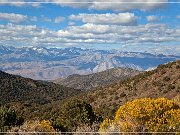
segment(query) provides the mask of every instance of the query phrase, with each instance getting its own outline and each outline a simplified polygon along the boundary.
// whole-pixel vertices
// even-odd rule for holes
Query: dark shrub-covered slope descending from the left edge
[[[80,92],[81,90],[49,82],[34,81],[0,71],[0,105],[12,102],[46,104]]]

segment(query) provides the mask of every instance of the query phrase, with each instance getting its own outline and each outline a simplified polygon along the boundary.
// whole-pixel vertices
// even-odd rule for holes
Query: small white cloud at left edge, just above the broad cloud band
[[[14,14],[14,13],[0,13],[0,20],[7,20],[13,23],[19,23],[26,21],[28,17],[26,15]]]

